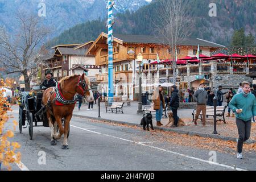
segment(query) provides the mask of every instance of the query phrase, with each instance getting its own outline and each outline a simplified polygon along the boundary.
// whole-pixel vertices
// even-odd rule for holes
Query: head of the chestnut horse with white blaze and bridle
[[[92,90],[90,89],[90,81],[89,79],[82,74],[82,76],[79,77],[79,84],[77,86],[77,93],[81,94],[86,98],[88,102],[93,102],[93,93]]]

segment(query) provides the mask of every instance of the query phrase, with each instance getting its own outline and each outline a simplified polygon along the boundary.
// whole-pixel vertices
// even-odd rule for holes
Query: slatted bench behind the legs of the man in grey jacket
[[[223,119],[218,119],[217,121],[223,121],[226,124],[225,121],[225,110],[226,110],[226,106],[217,106],[216,107],[216,117],[223,117]],[[195,120],[195,115],[196,115],[196,109],[193,110],[193,121]],[[206,110],[206,114],[207,117],[210,115],[212,117],[214,117],[214,106],[207,106],[207,110]],[[202,121],[202,111],[200,112],[200,118]],[[208,119],[208,118],[207,118]],[[212,119],[209,119],[212,120]]]

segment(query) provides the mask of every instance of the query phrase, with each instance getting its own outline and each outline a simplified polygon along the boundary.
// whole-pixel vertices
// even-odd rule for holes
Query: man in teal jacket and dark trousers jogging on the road
[[[238,159],[243,158],[243,142],[250,138],[251,118],[256,116],[256,98],[250,93],[249,82],[242,82],[242,89],[242,92],[236,94],[229,102],[229,107],[236,113],[239,134],[237,142]]]

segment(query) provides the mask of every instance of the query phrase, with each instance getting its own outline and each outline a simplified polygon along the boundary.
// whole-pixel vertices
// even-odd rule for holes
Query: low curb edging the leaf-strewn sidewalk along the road
[[[73,114],[73,117],[83,118],[83,119],[96,119],[98,121],[104,121],[104,122],[109,122],[109,123],[117,123],[117,124],[125,124],[125,125],[130,125],[130,126],[141,126],[137,123],[127,123],[127,122],[123,122],[123,121],[115,121],[115,120],[112,120],[112,119],[94,118],[94,117],[89,117],[89,116],[79,115],[79,114]],[[200,132],[196,132],[196,131],[184,131],[184,130],[166,128],[166,127],[159,127],[159,126],[154,126],[154,129],[160,130],[160,131],[172,131],[172,132],[175,132],[175,133],[178,133],[178,134],[199,136],[199,137],[204,137],[204,138],[214,138],[214,139],[221,139],[221,140],[231,140],[233,142],[237,142],[237,138],[226,137],[226,136],[222,136],[222,135],[219,135],[219,134],[206,134],[206,133],[200,133]],[[256,140],[249,139],[245,143],[248,143],[248,144],[256,143]]]

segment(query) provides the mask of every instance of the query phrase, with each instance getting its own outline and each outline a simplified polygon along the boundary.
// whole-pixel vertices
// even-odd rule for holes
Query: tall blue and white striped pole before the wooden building
[[[108,45],[109,45],[109,97],[114,96],[113,83],[113,5],[114,1],[108,1]],[[111,101],[110,101],[111,102]]]

